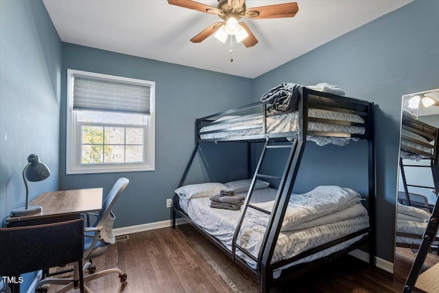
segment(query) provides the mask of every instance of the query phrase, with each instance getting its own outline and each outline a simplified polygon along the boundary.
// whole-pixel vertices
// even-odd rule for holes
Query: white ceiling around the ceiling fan
[[[43,0],[62,41],[255,78],[412,0],[297,0],[287,19],[243,19],[259,43],[246,48],[210,36],[189,41],[218,16],[166,0]],[[215,6],[217,0],[198,0]],[[292,1],[247,0],[247,8]]]

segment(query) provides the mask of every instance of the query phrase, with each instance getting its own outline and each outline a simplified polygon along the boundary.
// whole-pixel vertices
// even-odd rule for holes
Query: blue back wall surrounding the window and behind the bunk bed
[[[65,175],[67,69],[156,82],[154,172]],[[104,187],[106,193],[117,178],[130,179],[115,207],[115,226],[120,227],[169,220],[166,198],[174,195],[195,145],[195,119],[252,102],[252,80],[63,43],[61,95],[60,189]],[[213,180],[221,182],[246,176],[246,161],[240,159],[246,158],[246,145],[228,144],[224,148],[224,145],[209,144],[202,150],[205,162],[213,170]],[[205,180],[209,180],[208,173],[198,156],[186,183]]]

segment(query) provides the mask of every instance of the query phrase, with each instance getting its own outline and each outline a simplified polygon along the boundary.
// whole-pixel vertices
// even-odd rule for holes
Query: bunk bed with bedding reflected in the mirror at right
[[[412,161],[429,161],[429,165],[404,164],[403,159]],[[408,207],[399,204],[400,209],[411,208],[412,211],[426,208],[425,200],[412,200],[409,187],[431,189],[436,194],[436,204],[428,206],[431,211],[425,220],[396,220],[396,246],[417,250],[416,259],[405,282],[403,292],[409,293],[414,289],[418,274],[423,266],[427,253],[438,252],[438,223],[439,223],[439,128],[418,121],[417,117],[403,110],[401,123],[401,150],[399,166],[403,180],[404,191],[399,195],[399,202],[404,202]],[[413,185],[407,183],[405,168],[429,168],[433,177],[434,186]],[[405,195],[405,196],[404,196]],[[418,197],[419,198],[419,197]],[[401,215],[401,213],[398,213]],[[422,217],[421,217],[422,218]]]

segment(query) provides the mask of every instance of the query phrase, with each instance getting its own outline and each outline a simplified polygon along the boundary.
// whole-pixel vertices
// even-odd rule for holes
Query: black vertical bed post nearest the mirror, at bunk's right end
[[[369,263],[375,266],[375,253],[377,249],[376,220],[375,220],[375,137],[374,137],[374,104],[369,105],[368,115],[368,175],[369,175]]]

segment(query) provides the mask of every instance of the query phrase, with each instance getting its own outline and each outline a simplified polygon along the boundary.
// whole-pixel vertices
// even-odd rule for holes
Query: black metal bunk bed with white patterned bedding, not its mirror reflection
[[[261,292],[269,292],[277,283],[297,277],[367,244],[370,263],[375,263],[374,105],[302,86],[295,90],[296,98],[288,101],[294,105],[289,104],[285,111],[278,111],[279,108],[274,107],[276,101],[257,102],[196,119],[195,148],[174,194],[173,227],[176,226],[177,215],[185,218],[259,281]],[[273,111],[274,108],[276,111]],[[292,194],[307,141],[314,141],[318,145],[346,145],[359,139],[368,141],[368,151],[365,154],[368,157],[368,211],[359,203],[359,194],[352,189],[317,187],[306,194]],[[252,142],[264,143],[251,179],[239,181],[235,186],[233,182],[225,185],[183,185],[200,145],[222,141],[244,142],[248,145]],[[282,148],[289,149],[283,175],[261,174],[265,154]],[[249,147],[248,152],[250,150]],[[248,154],[249,173],[250,161],[251,156]],[[272,188],[273,184],[270,185],[265,180],[275,180],[278,185]],[[246,188],[241,190],[241,185],[246,185]],[[236,196],[245,198],[240,209],[210,207],[209,197],[224,190],[236,191]],[[320,222],[306,226],[302,222],[307,219],[297,222],[291,209],[292,206],[299,209],[309,208],[304,202],[312,202],[313,200],[309,200],[310,196],[313,200],[322,197],[336,204],[325,211],[317,211],[311,218],[317,218],[315,220]],[[351,202],[346,203],[349,200]],[[344,208],[355,205],[355,215],[348,213],[347,217],[344,215],[342,220],[335,222],[320,218],[320,215],[329,213],[337,215],[342,209],[337,205],[340,202]],[[297,226],[286,228],[287,224]],[[341,225],[342,229],[335,233],[337,225]],[[300,239],[309,240],[311,235],[319,237],[300,242]]]

